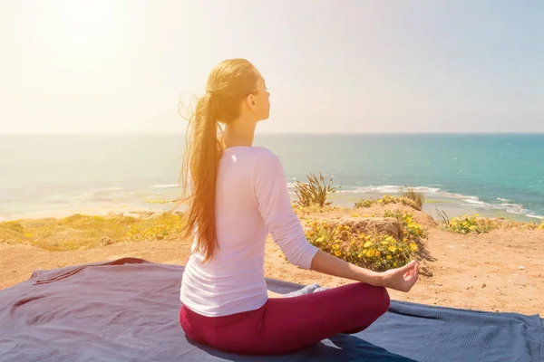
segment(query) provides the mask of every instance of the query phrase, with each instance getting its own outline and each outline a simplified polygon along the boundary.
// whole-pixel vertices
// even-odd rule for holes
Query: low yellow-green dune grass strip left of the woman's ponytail
[[[73,214],[63,219],[0,223],[0,243],[30,243],[48,251],[90,249],[100,246],[102,238],[112,243],[179,239],[183,225],[182,213],[141,218]]]

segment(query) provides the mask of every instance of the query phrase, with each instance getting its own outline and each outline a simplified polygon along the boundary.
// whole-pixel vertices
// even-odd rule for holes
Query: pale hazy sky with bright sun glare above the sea
[[[0,0],[0,133],[182,132],[228,58],[259,132],[544,132],[544,2]]]

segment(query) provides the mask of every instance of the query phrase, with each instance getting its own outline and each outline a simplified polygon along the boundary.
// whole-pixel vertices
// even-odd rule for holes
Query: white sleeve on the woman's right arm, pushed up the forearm
[[[318,248],[309,243],[291,206],[287,177],[279,158],[266,148],[257,157],[253,186],[258,210],[272,239],[296,266],[310,269]]]

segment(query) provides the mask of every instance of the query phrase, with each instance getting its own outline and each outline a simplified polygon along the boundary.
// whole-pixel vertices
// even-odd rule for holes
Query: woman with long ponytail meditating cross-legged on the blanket
[[[185,230],[194,243],[181,283],[180,324],[187,338],[241,354],[286,353],[366,329],[389,308],[386,288],[410,291],[418,279],[417,262],[374,272],[307,242],[279,159],[252,147],[257,122],[268,118],[268,98],[250,62],[220,62],[189,123],[182,170],[190,189]],[[268,233],[289,262],[359,282],[268,298]]]

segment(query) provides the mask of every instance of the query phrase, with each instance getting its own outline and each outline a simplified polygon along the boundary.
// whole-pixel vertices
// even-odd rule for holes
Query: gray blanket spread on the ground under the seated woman
[[[394,301],[371,328],[296,353],[239,356],[185,338],[183,266],[126,258],[34,271],[0,291],[0,361],[540,361],[539,316]],[[300,285],[268,280],[270,289]]]

